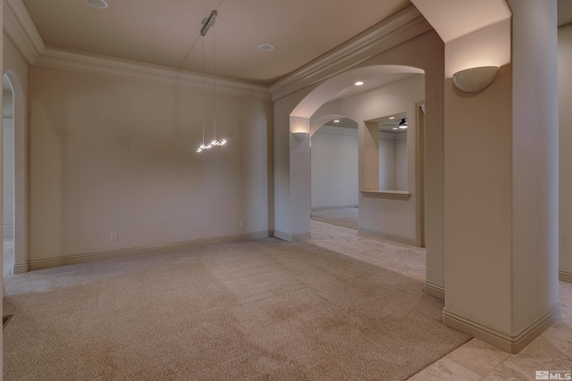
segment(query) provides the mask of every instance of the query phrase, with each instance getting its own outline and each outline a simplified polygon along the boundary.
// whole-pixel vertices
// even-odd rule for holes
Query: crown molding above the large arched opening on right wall
[[[294,93],[356,66],[376,54],[398,46],[431,30],[431,25],[414,5],[395,13],[370,29],[308,62],[270,86],[272,100]]]

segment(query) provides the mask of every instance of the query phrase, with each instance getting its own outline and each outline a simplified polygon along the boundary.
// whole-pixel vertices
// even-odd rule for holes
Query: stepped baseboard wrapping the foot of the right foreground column
[[[509,353],[518,353],[536,337],[560,319],[560,304],[556,303],[543,317],[521,329],[515,335],[503,333],[471,319],[465,319],[453,312],[443,310],[443,324],[468,335],[473,335],[485,343],[501,348]]]

